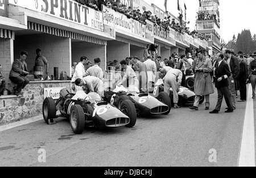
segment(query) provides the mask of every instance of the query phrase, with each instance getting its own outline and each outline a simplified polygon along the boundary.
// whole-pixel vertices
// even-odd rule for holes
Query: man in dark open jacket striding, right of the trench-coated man
[[[215,82],[215,87],[218,90],[218,101],[216,108],[210,112],[210,114],[215,114],[220,112],[221,109],[221,104],[223,100],[223,96],[226,101],[226,105],[228,105],[228,110],[225,111],[225,113],[230,113],[234,111],[233,105],[230,100],[230,93],[229,93],[229,81],[228,78],[231,76],[229,66],[228,64],[224,61],[224,54],[219,53],[217,55],[217,62],[216,62],[216,71],[215,71],[215,76],[216,76],[216,82]]]

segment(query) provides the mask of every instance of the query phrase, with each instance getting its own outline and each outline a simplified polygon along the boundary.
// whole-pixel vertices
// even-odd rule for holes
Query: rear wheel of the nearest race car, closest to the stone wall
[[[55,101],[52,98],[46,98],[43,102],[43,117],[46,124],[49,124],[49,119],[56,118]],[[53,122],[53,121],[52,121]]]

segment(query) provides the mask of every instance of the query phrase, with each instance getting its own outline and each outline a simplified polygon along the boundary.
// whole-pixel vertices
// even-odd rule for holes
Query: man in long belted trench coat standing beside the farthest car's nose
[[[198,53],[198,59],[194,62],[193,70],[195,71],[195,103],[193,107],[189,107],[193,110],[198,110],[200,95],[205,96],[205,110],[209,110],[210,107],[210,94],[214,94],[214,88],[212,84],[212,78],[210,73],[213,70],[212,62],[210,59],[205,58],[204,50],[200,50]]]

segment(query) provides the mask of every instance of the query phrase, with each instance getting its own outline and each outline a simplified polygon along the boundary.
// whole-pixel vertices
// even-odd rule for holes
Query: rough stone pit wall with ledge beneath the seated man
[[[44,88],[52,87],[71,88],[71,83],[69,81],[31,82],[24,88],[20,97],[2,96],[0,98],[0,125],[42,115]]]

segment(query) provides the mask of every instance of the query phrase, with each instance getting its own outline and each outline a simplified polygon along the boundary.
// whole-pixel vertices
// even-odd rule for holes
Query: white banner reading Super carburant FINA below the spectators
[[[132,33],[143,38],[146,38],[146,27],[137,20],[129,19],[125,14],[114,11],[106,6],[103,6],[103,21],[105,26],[114,28],[117,32]]]

